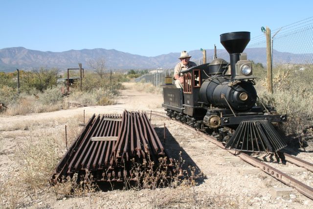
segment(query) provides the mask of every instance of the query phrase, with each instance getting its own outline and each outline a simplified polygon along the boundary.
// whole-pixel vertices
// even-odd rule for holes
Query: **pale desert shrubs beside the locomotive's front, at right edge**
[[[267,92],[265,79],[257,85],[258,95],[264,103],[274,106],[278,113],[288,115],[282,130],[298,139],[304,130],[313,126],[313,72],[282,68],[274,71],[274,93]]]

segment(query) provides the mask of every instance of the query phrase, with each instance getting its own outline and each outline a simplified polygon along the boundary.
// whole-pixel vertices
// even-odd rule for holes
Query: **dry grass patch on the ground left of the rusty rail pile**
[[[78,125],[82,121],[81,117],[62,118],[58,122],[44,119],[24,123],[19,121],[2,128],[4,135],[12,135],[16,139],[13,141],[16,143],[14,149],[8,157],[12,162],[10,164],[17,168],[12,168],[15,172],[10,173],[9,178],[0,178],[1,208],[27,207],[32,201],[28,197],[35,195],[36,199],[40,198],[42,191],[49,192],[50,175],[67,150],[64,125],[69,127],[67,139],[70,144],[82,129]],[[23,124],[28,124],[27,128]],[[23,136],[22,139],[13,136],[14,130],[19,131],[18,135]],[[1,142],[2,140],[5,139],[2,138]],[[64,187],[65,192],[66,190],[67,187]]]

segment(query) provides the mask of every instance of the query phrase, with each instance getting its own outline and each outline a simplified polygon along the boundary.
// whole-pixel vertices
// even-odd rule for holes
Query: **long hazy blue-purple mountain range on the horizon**
[[[255,63],[266,64],[265,48],[246,48],[248,59]],[[224,49],[218,49],[218,57],[229,61],[229,55]],[[207,62],[213,57],[213,49],[207,49]],[[199,64],[202,59],[200,50],[189,51],[192,55],[191,60]],[[37,51],[24,47],[11,47],[0,49],[0,71],[31,70],[39,67],[54,68],[66,70],[67,68],[78,68],[78,63],[82,63],[83,68],[89,68],[89,61],[104,57],[106,67],[113,70],[127,69],[156,69],[156,68],[174,68],[179,62],[180,52],[162,54],[155,57],[141,56],[115,49],[81,49],[69,50],[63,52]],[[305,60],[303,56],[312,59],[312,54],[292,54],[286,52],[273,51],[274,59],[282,63],[297,63],[299,57]]]

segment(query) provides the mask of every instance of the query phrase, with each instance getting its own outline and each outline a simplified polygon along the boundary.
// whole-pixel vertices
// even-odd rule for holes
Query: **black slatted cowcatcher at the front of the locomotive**
[[[274,153],[286,146],[268,120],[245,120],[239,124],[225,149]]]

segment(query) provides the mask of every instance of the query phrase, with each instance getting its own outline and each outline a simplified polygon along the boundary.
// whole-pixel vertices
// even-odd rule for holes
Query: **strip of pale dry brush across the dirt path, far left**
[[[119,95],[116,88],[94,88],[87,92],[72,90],[68,96],[64,96],[61,87],[47,89],[44,93],[17,94],[14,89],[1,89],[0,102],[7,108],[2,108],[0,114],[7,116],[26,115],[31,113],[53,112],[67,109],[69,102],[90,105],[112,105]]]

